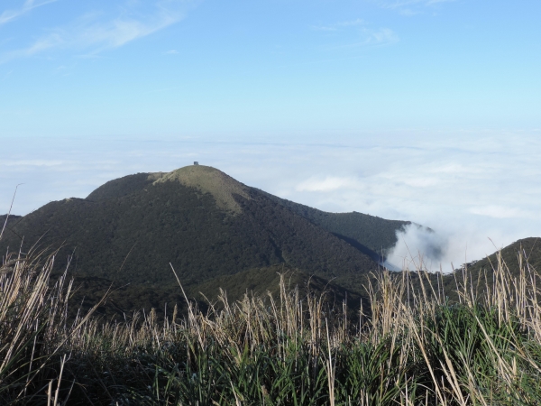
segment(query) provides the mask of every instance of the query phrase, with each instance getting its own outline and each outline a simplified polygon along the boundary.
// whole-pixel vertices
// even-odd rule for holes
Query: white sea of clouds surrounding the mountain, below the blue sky
[[[3,138],[0,212],[86,197],[127,174],[199,161],[326,211],[410,220],[388,258],[450,271],[541,236],[541,132]],[[427,229],[429,227],[430,229]],[[432,231],[431,231],[432,230]]]

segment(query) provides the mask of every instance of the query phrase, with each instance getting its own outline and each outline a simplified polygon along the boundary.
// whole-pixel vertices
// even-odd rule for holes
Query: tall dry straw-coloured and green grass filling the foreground
[[[94,405],[534,405],[541,402],[538,275],[500,261],[483,290],[457,274],[375,275],[361,312],[324,297],[246,295],[158,323],[69,321],[71,284],[53,256],[0,271],[0,403]],[[417,279],[418,281],[418,279]],[[460,282],[462,281],[462,282]],[[481,294],[474,293],[482,291]],[[369,310],[370,309],[370,310]]]

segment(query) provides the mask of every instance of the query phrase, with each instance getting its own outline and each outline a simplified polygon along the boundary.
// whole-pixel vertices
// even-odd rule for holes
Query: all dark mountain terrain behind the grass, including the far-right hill
[[[0,216],[1,226],[5,218]],[[300,275],[296,281],[302,283],[311,275],[319,288],[334,286],[337,297],[346,291],[362,295],[368,275],[409,224],[310,208],[200,165],[128,175],[105,182],[87,198],[12,215],[0,249],[18,253],[23,241],[23,253],[38,241],[41,248],[62,247],[56,263],[63,269],[70,258],[70,272],[80,281],[79,302],[87,298],[90,306],[115,286],[112,307],[104,311],[119,315],[128,308],[183,302],[170,263],[188,296],[200,303],[199,291],[215,298],[220,287],[234,300],[248,291],[272,291],[280,269]],[[541,266],[537,240],[521,239],[501,250],[509,269],[518,268],[518,251],[530,266]],[[467,264],[472,281],[490,274],[494,263],[496,253]],[[459,272],[443,277],[446,291],[454,289]]]

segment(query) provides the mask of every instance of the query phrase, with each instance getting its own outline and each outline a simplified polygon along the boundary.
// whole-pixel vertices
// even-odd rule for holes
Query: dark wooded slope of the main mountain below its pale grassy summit
[[[24,235],[29,246],[44,235],[42,246],[64,244],[64,255],[75,250],[79,274],[137,283],[174,281],[169,263],[186,283],[275,263],[326,277],[377,266],[268,198],[253,195],[239,204],[242,215],[229,216],[211,195],[164,182],[121,198],[51,202],[5,237],[14,246]]]

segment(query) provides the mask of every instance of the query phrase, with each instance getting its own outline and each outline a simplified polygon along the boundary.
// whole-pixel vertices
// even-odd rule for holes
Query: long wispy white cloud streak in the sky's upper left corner
[[[128,16],[128,13],[113,18],[87,14],[68,25],[50,29],[48,34],[26,48],[5,52],[0,55],[0,63],[60,49],[84,52],[83,56],[87,57],[96,56],[102,51],[122,47],[178,23],[184,17],[188,3],[181,0],[160,1],[154,4],[151,13],[136,17]],[[126,7],[133,5],[128,3]]]

